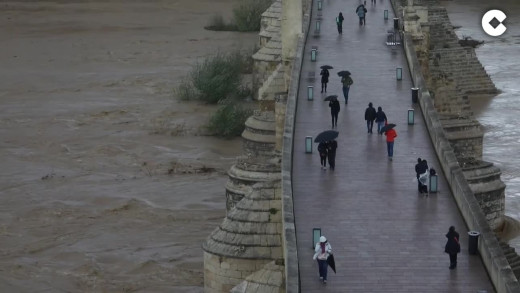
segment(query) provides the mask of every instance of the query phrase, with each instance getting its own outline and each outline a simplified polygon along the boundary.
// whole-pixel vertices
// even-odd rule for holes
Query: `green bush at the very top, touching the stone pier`
[[[242,0],[233,9],[234,24],[238,31],[260,31],[262,13],[269,8],[272,0]]]

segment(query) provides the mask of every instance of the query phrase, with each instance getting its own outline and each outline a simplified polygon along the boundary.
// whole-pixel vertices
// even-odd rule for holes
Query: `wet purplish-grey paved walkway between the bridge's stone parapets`
[[[311,35],[305,49],[295,129],[293,192],[302,292],[494,292],[480,257],[468,255],[467,228],[443,174],[437,194],[417,192],[417,157],[440,171],[419,109],[415,125],[407,125],[412,87],[402,48],[385,45],[393,13],[388,0],[367,1],[367,24],[360,27],[354,11],[357,0],[324,0],[321,36]],[[389,10],[384,21],[383,11]],[[345,17],[338,35],[335,17]],[[318,61],[310,61],[318,46]],[[305,136],[330,129],[330,111],[320,96],[319,66],[333,65],[327,94],[340,97],[336,170],[320,169],[316,144],[305,154]],[[403,80],[396,81],[396,67]],[[345,107],[339,70],[352,72],[354,84]],[[308,82],[308,72],[316,80]],[[307,101],[308,85],[315,99]],[[385,137],[367,134],[364,111],[368,103],[382,106],[389,122],[397,124],[394,160],[388,161]],[[454,225],[461,235],[458,267],[449,270],[445,234]],[[337,274],[329,270],[326,286],[318,280],[312,260],[312,228],[319,227],[334,251]]]

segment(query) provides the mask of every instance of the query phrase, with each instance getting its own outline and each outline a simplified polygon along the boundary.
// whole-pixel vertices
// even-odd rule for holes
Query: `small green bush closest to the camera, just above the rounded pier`
[[[244,123],[252,114],[252,110],[239,104],[225,103],[211,116],[207,128],[212,134],[224,138],[239,136],[244,131]]]

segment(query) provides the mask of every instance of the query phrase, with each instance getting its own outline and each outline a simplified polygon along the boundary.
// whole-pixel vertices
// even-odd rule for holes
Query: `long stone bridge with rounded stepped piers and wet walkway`
[[[321,292],[311,260],[314,227],[331,241],[339,265],[329,291],[520,292],[520,257],[495,236],[505,185],[500,170],[482,161],[483,132],[469,106],[496,88],[437,0],[368,3],[363,27],[354,14],[359,3],[277,0],[264,12],[253,56],[259,109],[228,172],[226,217],[203,244],[205,292]],[[399,44],[387,46],[388,35]],[[348,68],[355,80],[340,112],[335,171],[321,170],[305,144],[330,129],[317,91],[326,63]],[[339,94],[334,72],[329,93]],[[416,104],[411,87],[419,88]],[[391,162],[384,136],[367,136],[369,101],[385,105],[398,124]],[[409,109],[415,121],[407,125]],[[417,195],[418,156],[439,171],[437,194]],[[463,246],[455,272],[443,253],[450,225]],[[469,230],[480,232],[478,255],[467,252]]]

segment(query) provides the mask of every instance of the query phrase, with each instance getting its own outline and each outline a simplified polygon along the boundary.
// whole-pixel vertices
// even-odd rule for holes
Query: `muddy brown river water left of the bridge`
[[[240,139],[172,89],[233,1],[0,3],[0,292],[202,292]]]

